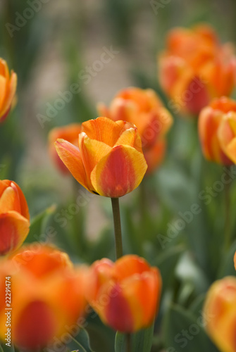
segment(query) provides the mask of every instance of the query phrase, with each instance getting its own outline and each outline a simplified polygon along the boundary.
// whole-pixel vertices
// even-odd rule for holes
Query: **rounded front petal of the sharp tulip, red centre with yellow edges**
[[[115,146],[94,168],[91,181],[101,196],[117,198],[137,188],[146,170],[142,153],[131,146]]]

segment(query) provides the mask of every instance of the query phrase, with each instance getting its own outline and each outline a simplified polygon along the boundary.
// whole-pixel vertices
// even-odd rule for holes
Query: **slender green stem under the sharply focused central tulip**
[[[119,199],[111,198],[111,204],[112,204],[112,211],[113,211],[113,222],[114,222],[115,241],[116,241],[116,259],[118,259],[123,256]]]

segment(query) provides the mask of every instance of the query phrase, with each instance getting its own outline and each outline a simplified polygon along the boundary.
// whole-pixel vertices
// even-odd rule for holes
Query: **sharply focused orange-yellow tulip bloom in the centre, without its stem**
[[[64,139],[55,146],[77,182],[101,196],[124,196],[138,187],[147,170],[137,128],[124,121],[83,122],[79,148]]]

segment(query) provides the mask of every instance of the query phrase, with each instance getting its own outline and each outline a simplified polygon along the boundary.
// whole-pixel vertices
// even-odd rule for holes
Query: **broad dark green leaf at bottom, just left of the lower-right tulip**
[[[169,351],[217,352],[218,349],[204,331],[201,314],[197,318],[192,313],[173,305],[168,308],[163,322],[163,341]]]

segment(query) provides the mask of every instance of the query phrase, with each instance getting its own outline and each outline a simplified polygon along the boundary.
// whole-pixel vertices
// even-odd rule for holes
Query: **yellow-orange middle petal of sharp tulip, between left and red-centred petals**
[[[82,163],[86,170],[87,183],[89,185],[89,189],[93,189],[90,181],[90,174],[101,158],[106,156],[111,151],[111,146],[95,139],[90,139],[87,137],[85,132],[80,133],[79,146]]]

